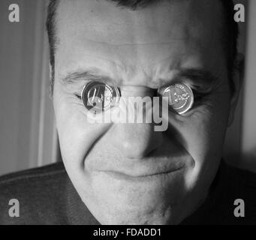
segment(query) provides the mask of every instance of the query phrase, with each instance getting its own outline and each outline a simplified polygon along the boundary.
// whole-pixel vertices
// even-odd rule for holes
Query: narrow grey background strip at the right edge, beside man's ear
[[[242,106],[240,165],[256,172],[256,1],[248,7],[248,37]]]

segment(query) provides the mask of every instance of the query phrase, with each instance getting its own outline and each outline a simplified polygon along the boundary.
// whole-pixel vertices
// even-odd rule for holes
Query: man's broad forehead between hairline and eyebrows
[[[191,62],[206,68],[223,52],[218,1],[158,1],[130,10],[111,1],[61,0],[56,23],[60,73],[100,66],[112,74],[159,74]]]

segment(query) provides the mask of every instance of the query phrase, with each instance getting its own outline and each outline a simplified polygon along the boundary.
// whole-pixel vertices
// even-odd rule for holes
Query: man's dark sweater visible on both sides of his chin
[[[10,217],[10,199],[20,202],[20,217]],[[235,199],[245,202],[245,217],[233,214]],[[63,163],[0,177],[0,224],[99,224],[83,204]],[[256,175],[221,163],[203,205],[182,224],[256,224]]]

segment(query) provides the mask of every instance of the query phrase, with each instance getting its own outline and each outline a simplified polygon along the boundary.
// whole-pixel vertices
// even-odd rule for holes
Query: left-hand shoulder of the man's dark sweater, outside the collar
[[[63,163],[0,177],[0,224],[59,223],[66,181]],[[11,199],[19,202],[20,217],[10,217]]]

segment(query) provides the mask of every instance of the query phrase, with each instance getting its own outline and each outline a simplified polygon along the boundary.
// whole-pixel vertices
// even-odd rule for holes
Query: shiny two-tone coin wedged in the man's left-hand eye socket
[[[87,110],[102,113],[119,101],[119,89],[105,83],[90,82],[84,86],[81,98]]]

